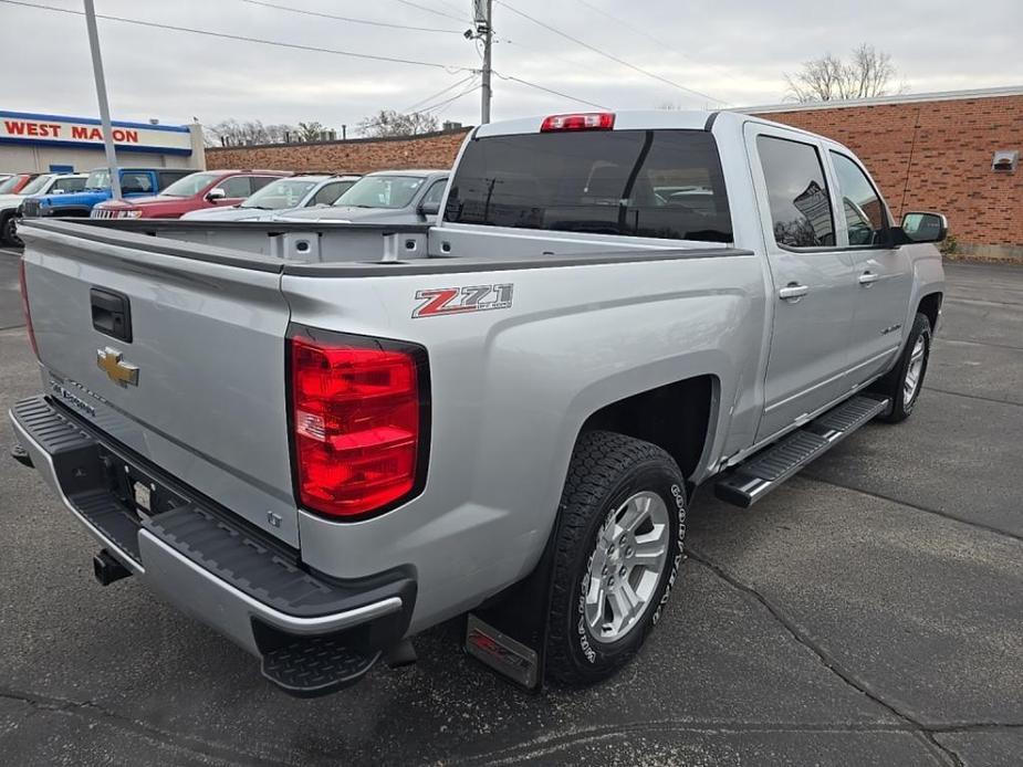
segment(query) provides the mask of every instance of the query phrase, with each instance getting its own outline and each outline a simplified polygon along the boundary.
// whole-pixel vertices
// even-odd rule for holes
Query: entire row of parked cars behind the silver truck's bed
[[[121,168],[111,174],[14,174],[0,178],[0,238],[18,245],[19,218],[202,221],[365,221],[424,223],[443,198],[447,170],[383,170],[366,176],[284,170]]]

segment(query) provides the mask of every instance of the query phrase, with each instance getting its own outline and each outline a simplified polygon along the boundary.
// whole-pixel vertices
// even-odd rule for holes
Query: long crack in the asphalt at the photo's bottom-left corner
[[[105,721],[106,724],[134,732],[149,740],[163,744],[170,748],[180,749],[189,753],[195,757],[208,759],[212,764],[223,765],[225,767],[246,767],[247,765],[262,765],[264,767],[293,767],[303,763],[283,761],[280,759],[268,759],[258,754],[241,752],[237,748],[230,748],[218,743],[205,740],[191,735],[182,735],[156,727],[142,719],[131,717],[109,711],[93,701],[72,701],[64,697],[54,697],[29,693],[10,687],[0,687],[0,698],[18,701],[32,708],[40,711],[52,711],[62,714],[81,715],[90,719]],[[239,757],[242,760],[239,760]]]

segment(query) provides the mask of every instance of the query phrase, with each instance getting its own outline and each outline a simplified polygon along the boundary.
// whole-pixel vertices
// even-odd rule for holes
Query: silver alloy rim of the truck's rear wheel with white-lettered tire
[[[657,493],[636,493],[607,515],[586,574],[584,613],[595,641],[616,642],[639,626],[668,561],[669,535]]]

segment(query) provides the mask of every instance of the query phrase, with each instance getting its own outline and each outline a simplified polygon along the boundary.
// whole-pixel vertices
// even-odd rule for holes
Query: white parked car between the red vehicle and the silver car
[[[358,181],[358,176],[290,176],[268,183],[230,208],[185,213],[189,221],[268,221],[274,213],[330,206]]]

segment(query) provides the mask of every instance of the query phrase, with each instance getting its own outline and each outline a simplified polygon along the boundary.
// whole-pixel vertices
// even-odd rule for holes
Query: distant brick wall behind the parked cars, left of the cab
[[[272,168],[368,174],[401,168],[450,168],[467,130],[401,139],[354,139],[285,146],[212,148],[206,165],[215,168]]]

